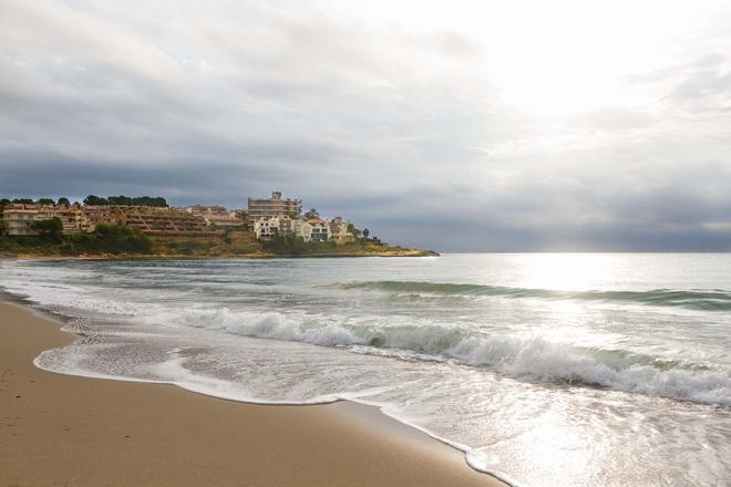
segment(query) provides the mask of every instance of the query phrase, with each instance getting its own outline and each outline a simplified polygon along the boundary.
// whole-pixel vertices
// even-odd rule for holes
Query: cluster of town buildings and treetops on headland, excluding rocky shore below
[[[328,220],[315,208],[302,215],[302,200],[285,199],[279,191],[272,191],[270,198],[248,198],[247,209],[230,210],[203,205],[174,208],[161,197],[90,195],[83,204],[72,204],[66,198],[2,199],[0,215],[4,232],[11,236],[39,235],[42,228],[38,222],[58,218],[66,235],[91,232],[99,224],[113,224],[148,236],[212,237],[238,228],[253,231],[258,240],[295,237],[305,242],[344,245],[369,237],[368,229],[359,230],[340,216]]]

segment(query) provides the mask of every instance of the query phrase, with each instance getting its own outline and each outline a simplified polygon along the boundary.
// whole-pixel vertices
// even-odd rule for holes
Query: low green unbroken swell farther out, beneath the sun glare
[[[492,296],[513,299],[533,298],[545,300],[616,301],[659,307],[680,307],[702,311],[731,311],[731,292],[724,290],[653,289],[649,291],[565,291],[423,281],[351,282],[339,284],[338,287],[341,289],[382,291],[393,294]]]

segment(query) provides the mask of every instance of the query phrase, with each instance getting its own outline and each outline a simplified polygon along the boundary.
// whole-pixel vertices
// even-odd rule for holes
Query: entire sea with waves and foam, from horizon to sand
[[[731,485],[731,255],[0,261],[39,367],[380,408],[515,486]]]

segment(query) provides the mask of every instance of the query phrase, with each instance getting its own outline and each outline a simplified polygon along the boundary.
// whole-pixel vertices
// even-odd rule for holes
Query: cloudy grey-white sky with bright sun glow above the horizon
[[[0,197],[272,189],[442,251],[731,250],[731,2],[0,0]]]

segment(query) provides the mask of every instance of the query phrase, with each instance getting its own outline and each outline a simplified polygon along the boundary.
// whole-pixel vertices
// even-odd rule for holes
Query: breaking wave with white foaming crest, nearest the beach
[[[171,311],[145,320],[320,346],[357,346],[361,353],[370,349],[411,360],[453,361],[536,382],[594,385],[731,406],[728,371],[622,350],[554,343],[539,336],[494,336],[436,324],[321,324],[317,319],[226,308]]]

